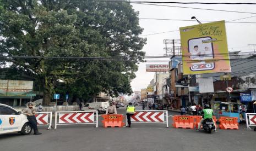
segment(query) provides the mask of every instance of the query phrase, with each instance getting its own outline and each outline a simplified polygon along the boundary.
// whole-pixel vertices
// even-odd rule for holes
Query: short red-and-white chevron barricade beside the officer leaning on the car
[[[52,128],[52,112],[36,112],[37,126],[49,126],[48,130]]]

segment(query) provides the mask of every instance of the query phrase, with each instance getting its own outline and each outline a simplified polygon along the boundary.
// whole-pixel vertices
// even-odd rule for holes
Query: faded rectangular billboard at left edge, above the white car
[[[32,81],[0,80],[0,96],[26,96],[33,89]]]

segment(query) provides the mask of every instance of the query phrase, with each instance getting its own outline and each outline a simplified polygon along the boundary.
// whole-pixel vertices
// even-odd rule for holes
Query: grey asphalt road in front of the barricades
[[[138,107],[137,107],[138,108]],[[118,113],[124,114],[124,108]],[[0,135],[0,150],[256,150],[256,132],[218,130],[205,133],[191,129],[175,129],[164,124],[132,124],[132,127],[102,127],[92,125],[62,125],[58,129],[40,127],[42,135],[22,136],[18,133]]]

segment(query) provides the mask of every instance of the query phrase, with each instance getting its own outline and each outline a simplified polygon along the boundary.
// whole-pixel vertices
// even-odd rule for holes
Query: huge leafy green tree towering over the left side
[[[31,75],[48,104],[57,82],[79,97],[101,91],[130,94],[146,39],[128,3],[68,0],[1,1],[0,54],[41,57],[111,57],[68,60],[8,57],[2,63]],[[2,9],[1,9],[2,8]],[[63,85],[62,84],[62,85]]]

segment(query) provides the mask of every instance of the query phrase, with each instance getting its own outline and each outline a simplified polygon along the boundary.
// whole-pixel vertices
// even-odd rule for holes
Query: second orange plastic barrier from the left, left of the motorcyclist
[[[175,115],[173,118],[173,127],[182,129],[194,129],[194,117],[186,115]]]

